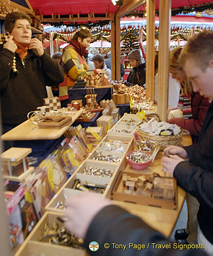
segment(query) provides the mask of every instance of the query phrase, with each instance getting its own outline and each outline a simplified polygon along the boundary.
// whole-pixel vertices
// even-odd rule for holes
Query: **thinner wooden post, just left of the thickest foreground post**
[[[155,0],[147,0],[147,27],[146,27],[146,96],[154,101],[154,17]]]

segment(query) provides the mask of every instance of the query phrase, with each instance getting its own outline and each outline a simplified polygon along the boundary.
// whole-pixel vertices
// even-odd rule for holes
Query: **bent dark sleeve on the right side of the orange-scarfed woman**
[[[40,56],[40,59],[47,86],[54,86],[64,81],[63,69],[55,59],[51,58],[46,52]]]

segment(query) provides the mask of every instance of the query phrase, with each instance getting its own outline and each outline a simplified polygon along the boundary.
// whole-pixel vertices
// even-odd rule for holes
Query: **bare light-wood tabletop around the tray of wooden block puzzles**
[[[191,136],[183,136],[181,144],[183,146],[191,145]],[[124,171],[129,173],[138,173],[141,175],[152,174],[153,172],[155,172],[160,174],[161,176],[165,176],[164,172],[162,171],[161,158],[162,152],[157,155],[154,162],[151,163],[146,169],[134,170],[130,167],[130,165],[127,165]],[[164,236],[169,238],[180,215],[185,196],[186,192],[178,186],[177,210],[162,209],[154,206],[136,205],[133,203],[119,202],[115,200],[113,200],[113,203],[128,210],[129,212],[131,212],[131,214],[137,215],[148,225],[157,229],[159,232],[163,233]]]

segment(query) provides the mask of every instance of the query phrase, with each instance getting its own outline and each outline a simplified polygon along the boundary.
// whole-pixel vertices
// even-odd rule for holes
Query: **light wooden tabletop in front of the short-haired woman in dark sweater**
[[[71,124],[82,114],[83,109],[76,111],[72,116],[71,122],[61,129],[51,128],[37,128],[33,130],[35,124],[26,120],[20,125],[16,126],[9,132],[1,136],[2,140],[53,140],[60,138],[65,131],[69,129]]]

